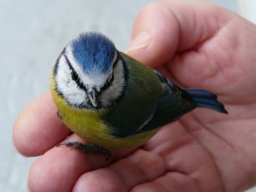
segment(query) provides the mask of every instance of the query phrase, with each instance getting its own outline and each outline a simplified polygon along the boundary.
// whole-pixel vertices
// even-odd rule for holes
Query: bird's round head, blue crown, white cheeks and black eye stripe
[[[124,92],[124,61],[100,33],[82,33],[69,42],[53,73],[56,90],[73,107],[107,108]]]

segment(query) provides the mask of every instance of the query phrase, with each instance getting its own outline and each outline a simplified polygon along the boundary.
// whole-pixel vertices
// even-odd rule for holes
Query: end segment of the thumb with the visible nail
[[[171,26],[166,26],[166,23]],[[134,21],[126,53],[155,68],[170,60],[178,44],[178,34],[178,23],[169,9],[163,3],[149,4]]]

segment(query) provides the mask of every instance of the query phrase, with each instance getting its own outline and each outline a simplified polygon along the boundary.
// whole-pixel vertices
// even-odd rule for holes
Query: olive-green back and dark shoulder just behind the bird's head
[[[113,137],[136,133],[153,116],[163,92],[161,81],[151,68],[122,52],[120,54],[128,71],[125,93],[103,118],[113,127]]]

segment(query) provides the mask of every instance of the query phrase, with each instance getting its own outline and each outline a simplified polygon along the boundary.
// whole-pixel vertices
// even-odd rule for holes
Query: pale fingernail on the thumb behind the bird
[[[150,33],[148,31],[142,31],[139,35],[137,35],[135,38],[132,39],[130,42],[126,53],[129,53],[134,50],[143,49],[148,46],[151,39]]]

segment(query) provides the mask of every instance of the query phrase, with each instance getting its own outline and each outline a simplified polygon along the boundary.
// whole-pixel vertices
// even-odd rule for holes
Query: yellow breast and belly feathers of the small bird
[[[102,117],[105,111],[72,108],[55,90],[55,80],[51,77],[51,93],[58,113],[67,127],[78,137],[108,149],[136,147],[149,140],[158,129],[131,135],[125,138],[115,138],[111,135],[114,130]]]

